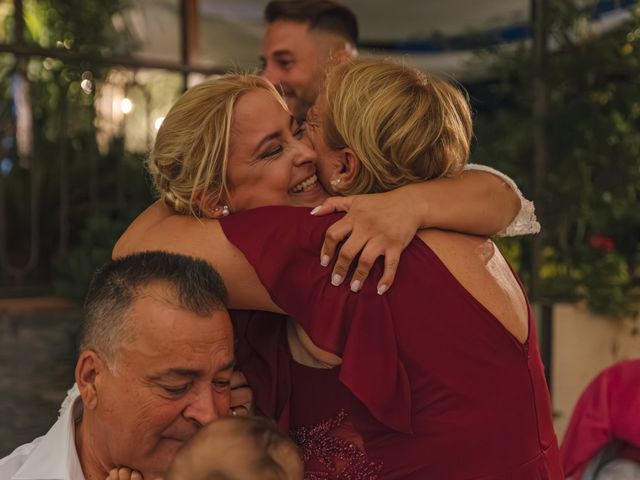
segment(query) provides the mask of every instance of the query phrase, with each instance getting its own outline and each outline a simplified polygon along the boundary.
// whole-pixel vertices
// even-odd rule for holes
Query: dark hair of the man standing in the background
[[[338,34],[355,47],[358,20],[344,5],[331,0],[272,0],[264,11],[267,23],[276,20],[309,22],[309,29]]]

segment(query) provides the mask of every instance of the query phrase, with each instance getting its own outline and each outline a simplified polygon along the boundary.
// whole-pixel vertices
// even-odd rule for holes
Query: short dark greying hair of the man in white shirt
[[[204,260],[167,252],[143,252],[112,260],[93,276],[84,304],[80,349],[113,363],[127,335],[125,318],[134,300],[155,282],[168,285],[176,306],[205,316],[224,310],[227,290]]]

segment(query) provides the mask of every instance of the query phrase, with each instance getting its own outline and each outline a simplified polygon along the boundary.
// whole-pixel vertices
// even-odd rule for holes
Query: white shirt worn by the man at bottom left
[[[44,436],[0,459],[0,480],[85,480],[75,442],[75,421],[81,415],[82,401],[74,386],[58,421]]]

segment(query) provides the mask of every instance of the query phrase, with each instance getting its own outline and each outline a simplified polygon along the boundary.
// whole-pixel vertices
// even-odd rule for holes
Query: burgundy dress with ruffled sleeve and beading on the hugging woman
[[[522,344],[417,238],[385,295],[336,288],[319,252],[338,218],[265,207],[221,222],[274,302],[343,359],[302,366],[284,317],[236,315],[239,368],[301,445],[305,478],[564,478],[531,313]]]

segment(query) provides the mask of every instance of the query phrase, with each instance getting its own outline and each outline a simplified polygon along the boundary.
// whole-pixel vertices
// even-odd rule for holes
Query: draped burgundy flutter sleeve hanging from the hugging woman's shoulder
[[[348,282],[332,286],[331,266],[320,265],[320,247],[325,231],[341,215],[314,218],[309,212],[263,207],[235,213],[220,223],[274,302],[318,347],[342,357],[340,381],[380,422],[410,433],[409,377],[398,351],[393,312],[387,297],[376,292],[374,279],[382,274],[381,262],[376,262],[370,280],[357,294],[350,292]],[[304,279],[305,288],[292,287],[295,279]]]

